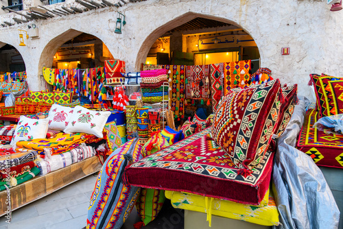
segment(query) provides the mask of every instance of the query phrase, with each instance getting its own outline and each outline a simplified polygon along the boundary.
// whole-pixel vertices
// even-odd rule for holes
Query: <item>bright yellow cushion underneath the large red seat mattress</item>
[[[165,195],[171,200],[171,205],[174,208],[185,210],[195,210],[200,213],[209,215],[211,223],[211,215],[217,215],[230,219],[238,219],[259,224],[264,226],[279,226],[279,213],[276,207],[272,193],[266,194],[263,201],[267,202],[267,206],[253,206],[247,204],[239,204],[228,200],[220,200],[217,198],[207,198],[201,195],[190,193],[181,193],[175,191],[165,191]],[[208,206],[206,206],[208,205]]]

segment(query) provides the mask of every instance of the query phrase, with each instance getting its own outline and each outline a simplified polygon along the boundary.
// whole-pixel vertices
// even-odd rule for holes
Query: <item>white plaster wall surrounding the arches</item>
[[[25,40],[26,47],[19,47],[17,29],[26,29],[27,25],[0,28],[0,43],[18,49],[25,61],[29,87],[39,90],[44,87],[39,77],[41,68],[52,63],[59,47],[56,40],[64,42],[80,32],[93,34],[114,58],[126,61],[127,71],[137,71],[158,36],[202,16],[245,29],[259,47],[261,67],[272,69],[282,83],[297,83],[299,95],[309,97],[309,73],[342,75],[343,10],[329,9],[326,1],[314,0],[147,0],[118,9],[102,8],[36,21],[40,38]],[[114,33],[117,10],[126,15],[123,34]],[[3,16],[10,15],[1,15],[0,21]],[[75,31],[64,33],[68,29]],[[281,47],[290,47],[290,55],[281,56]]]

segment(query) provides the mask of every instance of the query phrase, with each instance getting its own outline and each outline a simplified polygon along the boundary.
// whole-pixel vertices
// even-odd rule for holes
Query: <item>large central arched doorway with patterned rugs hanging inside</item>
[[[259,69],[260,54],[254,38],[234,21],[189,12],[147,36],[136,67],[154,68],[139,64],[169,70],[169,106],[174,120],[182,124],[187,108],[193,114],[201,106],[208,116],[230,88],[250,84],[250,75]]]

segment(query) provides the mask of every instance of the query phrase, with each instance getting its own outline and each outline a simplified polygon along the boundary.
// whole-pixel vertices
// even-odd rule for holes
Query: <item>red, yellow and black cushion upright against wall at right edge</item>
[[[343,87],[342,77],[311,74],[316,93],[317,109],[320,117],[343,113],[343,101],[340,100],[340,88]],[[342,95],[343,96],[343,95]]]

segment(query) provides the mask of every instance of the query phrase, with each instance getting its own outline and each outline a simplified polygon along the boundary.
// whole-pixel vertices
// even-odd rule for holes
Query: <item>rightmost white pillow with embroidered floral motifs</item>
[[[102,138],[104,136],[102,131],[110,114],[110,111],[95,111],[75,106],[64,133],[86,133]]]

